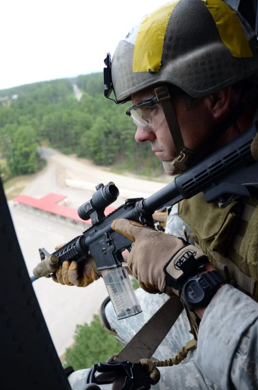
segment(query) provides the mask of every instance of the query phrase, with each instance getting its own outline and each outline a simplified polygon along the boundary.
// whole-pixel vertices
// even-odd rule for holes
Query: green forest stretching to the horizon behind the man
[[[73,83],[83,93],[80,101]],[[125,115],[129,105],[106,99],[103,90],[102,73],[0,90],[1,177],[42,169],[40,145],[99,165],[145,175],[162,173],[161,161],[149,145],[134,141],[135,124]]]

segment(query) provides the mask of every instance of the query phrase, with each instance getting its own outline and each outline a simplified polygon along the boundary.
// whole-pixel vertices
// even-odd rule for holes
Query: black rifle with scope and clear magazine
[[[125,218],[153,226],[152,214],[156,210],[189,199],[201,191],[206,202],[216,201],[221,208],[240,196],[257,195],[258,161],[250,150],[257,132],[258,122],[155,194],[147,199],[128,199],[108,216],[104,215],[105,208],[117,199],[119,190],[113,182],[99,185],[92,199],[78,209],[80,218],[91,218],[92,227],[46,259],[49,253],[42,249],[42,260],[48,261],[53,255],[57,256],[54,266],[59,267],[65,260],[83,264],[87,256],[93,256],[97,269],[102,271],[118,319],[141,312],[127,271],[122,267],[122,251],[126,248],[130,250],[132,241],[114,232],[112,222]],[[32,277],[32,280],[35,279]]]

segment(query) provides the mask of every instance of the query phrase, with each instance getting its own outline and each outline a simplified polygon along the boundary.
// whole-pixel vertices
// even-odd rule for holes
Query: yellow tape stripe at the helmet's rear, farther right
[[[220,37],[233,57],[253,57],[242,25],[232,8],[222,0],[201,0],[205,2],[219,30]]]

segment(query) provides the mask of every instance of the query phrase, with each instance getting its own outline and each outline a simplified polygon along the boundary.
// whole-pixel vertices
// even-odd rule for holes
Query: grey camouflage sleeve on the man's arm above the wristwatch
[[[196,361],[221,390],[258,389],[258,303],[222,287],[201,320]]]

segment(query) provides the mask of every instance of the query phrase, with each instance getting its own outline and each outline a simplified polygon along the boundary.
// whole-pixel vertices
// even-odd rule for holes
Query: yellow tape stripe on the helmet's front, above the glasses
[[[132,72],[159,72],[168,22],[179,1],[171,1],[143,19],[135,41]]]

